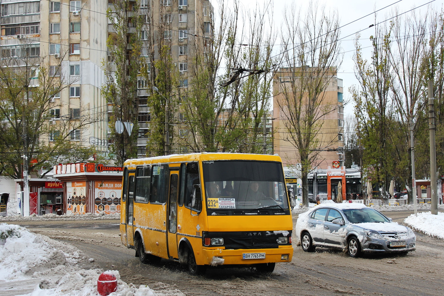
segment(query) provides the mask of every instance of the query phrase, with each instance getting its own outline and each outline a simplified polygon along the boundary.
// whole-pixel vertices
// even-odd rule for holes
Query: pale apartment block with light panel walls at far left
[[[60,132],[68,132],[69,140],[95,146],[106,155],[107,106],[101,95],[101,64],[107,57],[106,3],[0,0],[0,5],[2,57],[40,57],[50,75],[65,84],[52,98],[48,125],[53,131],[44,140],[51,142]],[[38,79],[32,84],[38,85]],[[67,130],[56,128],[62,122]]]

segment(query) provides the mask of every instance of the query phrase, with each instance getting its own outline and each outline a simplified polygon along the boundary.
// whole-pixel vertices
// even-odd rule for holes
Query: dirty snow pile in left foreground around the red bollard
[[[0,224],[0,294],[13,295],[10,287],[21,285],[29,286],[27,292],[32,291],[22,296],[95,296],[103,270],[81,269],[78,264],[91,259],[81,256],[72,245],[30,233],[18,225]],[[117,291],[110,296],[184,295],[174,286],[161,287],[162,283],[157,284],[157,292],[145,285],[136,287],[123,282],[117,270],[107,272],[117,279]]]

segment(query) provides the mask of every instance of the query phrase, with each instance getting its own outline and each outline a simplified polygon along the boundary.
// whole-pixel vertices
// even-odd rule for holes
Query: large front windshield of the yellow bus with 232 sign
[[[202,162],[208,209],[288,209],[279,162]]]

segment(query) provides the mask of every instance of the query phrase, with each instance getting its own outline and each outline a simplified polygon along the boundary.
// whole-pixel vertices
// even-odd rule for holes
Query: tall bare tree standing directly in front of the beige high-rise
[[[282,67],[276,74],[275,96],[285,118],[279,132],[297,151],[302,177],[302,202],[308,205],[308,174],[316,164],[319,150],[328,147],[331,135],[321,134],[325,115],[337,110],[328,87],[341,65],[337,13],[327,14],[325,7],[310,3],[308,12],[286,9],[282,28]],[[336,103],[334,103],[336,102]],[[334,135],[334,138],[337,134]]]

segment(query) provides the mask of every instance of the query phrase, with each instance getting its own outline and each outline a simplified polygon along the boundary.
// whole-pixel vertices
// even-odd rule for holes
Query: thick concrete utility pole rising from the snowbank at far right
[[[430,198],[432,215],[438,214],[438,198],[436,196],[436,147],[435,147],[435,110],[433,107],[433,82],[428,82],[428,134],[430,138]]]

